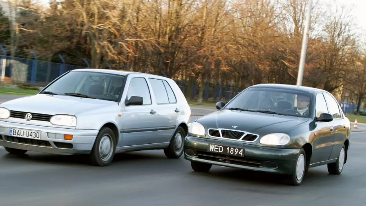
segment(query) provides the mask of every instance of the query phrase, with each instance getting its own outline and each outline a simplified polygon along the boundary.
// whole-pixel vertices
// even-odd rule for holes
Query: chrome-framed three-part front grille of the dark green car
[[[234,139],[244,142],[254,142],[258,135],[249,132],[228,129],[208,129],[209,136],[213,138]]]

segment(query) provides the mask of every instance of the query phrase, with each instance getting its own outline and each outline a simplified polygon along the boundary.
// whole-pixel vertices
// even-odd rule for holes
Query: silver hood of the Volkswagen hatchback
[[[64,95],[36,94],[4,102],[0,107],[13,111],[41,113],[48,115],[67,114],[90,111],[108,105],[117,104],[112,101]]]

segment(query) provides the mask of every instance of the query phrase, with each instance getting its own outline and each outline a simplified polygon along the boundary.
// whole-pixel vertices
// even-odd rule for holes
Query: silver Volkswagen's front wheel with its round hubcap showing
[[[90,161],[95,166],[111,164],[116,152],[116,136],[111,128],[103,127],[94,142],[90,153]]]

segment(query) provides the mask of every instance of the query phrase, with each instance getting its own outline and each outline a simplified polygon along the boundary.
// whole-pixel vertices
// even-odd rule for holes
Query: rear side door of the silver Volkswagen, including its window
[[[163,79],[149,78],[156,102],[156,138],[154,143],[168,142],[175,132],[176,122],[179,117],[179,109],[175,95],[169,84]]]

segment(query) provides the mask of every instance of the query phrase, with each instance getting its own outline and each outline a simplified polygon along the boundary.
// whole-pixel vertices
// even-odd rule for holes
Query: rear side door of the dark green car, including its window
[[[338,102],[332,95],[328,93],[324,93],[324,96],[329,108],[329,113],[333,115],[334,118],[333,124],[334,124],[335,135],[332,144],[333,145],[332,153],[330,154],[329,157],[329,159],[331,160],[338,157],[341,147],[344,144],[344,141],[346,141],[347,129],[346,129],[346,122],[344,120]]]

